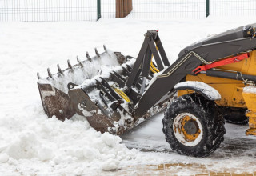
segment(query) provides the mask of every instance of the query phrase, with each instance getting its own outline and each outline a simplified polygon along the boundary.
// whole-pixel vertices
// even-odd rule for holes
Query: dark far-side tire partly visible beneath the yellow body
[[[248,124],[249,118],[246,117],[245,108],[231,108],[231,107],[222,107],[222,115],[225,118],[226,122],[233,123],[237,125],[246,125]]]

